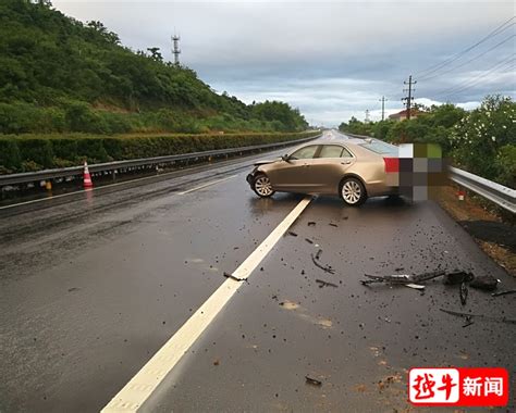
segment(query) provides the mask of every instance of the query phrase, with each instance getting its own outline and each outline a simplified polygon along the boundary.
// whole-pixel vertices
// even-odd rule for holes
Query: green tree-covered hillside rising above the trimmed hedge
[[[0,2],[0,134],[294,132],[282,102],[246,105],[218,95],[159,49],[133,51],[100,22],[50,2]]]

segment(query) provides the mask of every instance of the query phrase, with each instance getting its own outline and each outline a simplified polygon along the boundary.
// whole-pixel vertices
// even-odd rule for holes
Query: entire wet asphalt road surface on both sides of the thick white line
[[[302,199],[258,199],[248,164],[0,211],[0,411],[99,411]],[[437,204],[321,197],[291,230],[146,409],[404,410],[407,371],[425,365],[506,367],[514,409],[515,325],[439,309],[514,320],[516,296],[470,289],[462,306],[439,279],[423,295],[359,283],[460,268],[516,288]],[[319,248],[335,274],[314,265]]]

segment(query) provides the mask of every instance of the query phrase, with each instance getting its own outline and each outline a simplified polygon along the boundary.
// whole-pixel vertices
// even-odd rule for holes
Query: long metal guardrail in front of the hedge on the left
[[[262,150],[262,149],[282,148],[282,147],[287,147],[292,145],[303,143],[308,140],[317,139],[320,137],[321,135],[317,135],[317,136],[311,136],[309,138],[285,140],[283,142],[275,142],[275,143],[255,145],[250,147],[217,149],[212,151],[181,153],[181,154],[167,155],[167,157],[144,158],[144,159],[133,159],[133,160],[126,160],[126,161],[97,163],[97,164],[88,165],[88,167],[89,167],[89,172],[95,174],[98,172],[132,170],[139,166],[158,166],[158,165],[165,165],[168,163],[174,163],[177,161],[198,160],[202,158],[251,152],[251,151]],[[63,167],[59,170],[44,170],[44,171],[37,171],[37,172],[24,172],[20,174],[0,175],[0,187],[8,186],[8,185],[34,183],[38,180],[78,176],[83,174],[83,170],[84,170],[83,166],[71,166],[71,167]]]

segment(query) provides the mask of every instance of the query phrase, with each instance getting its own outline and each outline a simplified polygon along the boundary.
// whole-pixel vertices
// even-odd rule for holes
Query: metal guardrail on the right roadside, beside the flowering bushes
[[[516,190],[474,175],[469,172],[450,166],[450,179],[463,187],[489,199],[499,206],[516,213]]]

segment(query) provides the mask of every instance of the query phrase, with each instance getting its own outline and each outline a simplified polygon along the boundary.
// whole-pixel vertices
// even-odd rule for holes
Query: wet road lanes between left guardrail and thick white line
[[[1,411],[100,410],[298,203],[238,162],[0,211]]]

